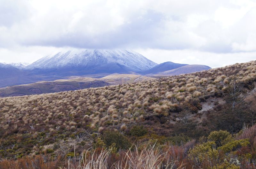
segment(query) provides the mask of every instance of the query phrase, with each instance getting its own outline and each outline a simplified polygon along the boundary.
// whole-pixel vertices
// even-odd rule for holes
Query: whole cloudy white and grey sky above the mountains
[[[256,60],[255,30],[256,0],[0,0],[0,62],[90,48],[221,67]]]

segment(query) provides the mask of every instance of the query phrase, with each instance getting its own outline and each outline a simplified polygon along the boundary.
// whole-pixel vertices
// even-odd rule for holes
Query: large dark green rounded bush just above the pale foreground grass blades
[[[108,147],[115,143],[117,150],[127,150],[131,146],[128,139],[116,131],[105,131],[103,133],[102,140]]]

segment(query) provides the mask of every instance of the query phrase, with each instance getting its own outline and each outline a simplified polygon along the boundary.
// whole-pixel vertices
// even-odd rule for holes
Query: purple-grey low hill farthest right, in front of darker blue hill
[[[209,70],[211,67],[205,65],[186,65],[176,69],[160,72],[157,74],[147,74],[146,76],[174,76],[180,74],[189,74],[194,72],[200,72],[203,70]]]

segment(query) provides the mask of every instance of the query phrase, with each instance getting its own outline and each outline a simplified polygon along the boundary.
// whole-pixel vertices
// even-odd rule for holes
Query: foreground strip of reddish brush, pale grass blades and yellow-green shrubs
[[[147,144],[128,151],[115,147],[88,149],[82,156],[47,158],[38,155],[18,160],[0,161],[1,169],[181,169],[256,168],[256,125],[235,135],[213,131],[206,138],[191,140],[181,146]]]

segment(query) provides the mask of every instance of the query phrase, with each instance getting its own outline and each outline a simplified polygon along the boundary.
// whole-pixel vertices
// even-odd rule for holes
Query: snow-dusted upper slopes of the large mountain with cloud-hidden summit
[[[134,51],[76,49],[46,56],[28,65],[26,69],[60,69],[64,67],[111,69],[113,66],[117,66],[136,72],[150,69],[156,65],[153,61]]]

